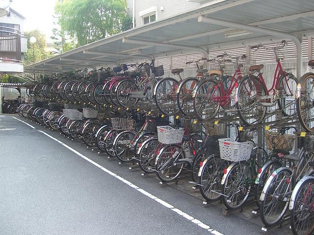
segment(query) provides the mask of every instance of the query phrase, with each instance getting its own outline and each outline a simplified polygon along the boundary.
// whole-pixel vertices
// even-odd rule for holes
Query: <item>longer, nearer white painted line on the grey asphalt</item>
[[[208,232],[214,234],[214,235],[223,235],[221,233],[219,233],[216,230],[210,229],[210,227],[204,223],[202,223],[201,221],[199,221],[198,219],[193,218],[192,216],[190,216],[189,214],[180,211],[179,209],[175,208],[174,206],[170,205],[169,203],[157,198],[156,196],[154,196],[153,194],[145,191],[142,188],[137,187],[136,185],[132,184],[130,181],[122,178],[121,176],[118,176],[117,174],[113,173],[112,171],[106,169],[104,166],[95,163],[93,160],[90,160],[89,158],[87,158],[86,156],[84,156],[83,154],[79,153],[77,150],[71,148],[69,145],[63,143],[62,141],[59,141],[57,139],[55,139],[54,137],[52,137],[51,135],[47,134],[44,131],[38,130],[39,132],[45,134],[46,136],[48,136],[49,138],[51,138],[54,141],[57,141],[58,143],[62,144],[64,147],[66,147],[67,149],[71,150],[72,152],[76,153],[79,157],[85,159],[86,161],[90,162],[91,164],[94,164],[95,166],[97,166],[98,168],[102,169],[103,171],[105,171],[106,173],[108,173],[109,175],[112,175],[113,177],[117,178],[118,180],[122,181],[123,183],[129,185],[131,188],[135,188],[137,191],[141,192],[142,194],[144,194],[145,196],[157,201],[159,204],[161,204],[162,206],[170,209],[171,211],[175,211],[177,214],[183,216],[183,218],[191,221],[192,223],[197,224],[198,226],[200,226],[203,229],[206,229]]]

